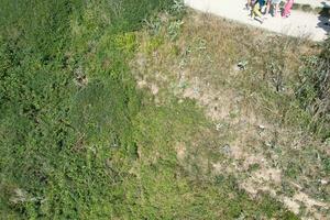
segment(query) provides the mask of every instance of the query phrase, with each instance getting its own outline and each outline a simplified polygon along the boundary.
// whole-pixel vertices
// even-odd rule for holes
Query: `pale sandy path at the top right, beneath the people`
[[[245,0],[185,0],[185,4],[193,9],[285,35],[323,41],[330,33],[329,19],[302,11],[293,11],[287,19],[268,18],[261,24],[249,16],[250,12],[244,10],[245,2]]]

